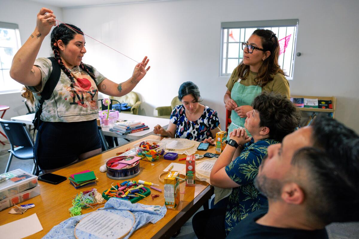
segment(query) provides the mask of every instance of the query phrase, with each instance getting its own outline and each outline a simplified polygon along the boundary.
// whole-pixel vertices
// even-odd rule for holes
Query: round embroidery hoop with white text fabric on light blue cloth
[[[88,215],[86,215],[84,218],[82,218],[75,226],[75,230],[74,230],[74,235],[76,239],[87,239],[90,236],[96,236],[96,238],[103,238],[103,239],[122,239],[125,238],[127,236],[127,234],[129,234],[129,232],[131,231],[131,229],[133,228],[133,226],[135,225],[135,215],[132,214],[132,212],[128,211],[128,210],[123,210],[121,212],[123,212],[123,215],[118,215],[112,212],[107,211],[107,209],[112,209],[112,210],[116,210],[113,207],[111,208],[106,208],[106,209],[99,209],[97,211],[94,212],[90,212]],[[90,222],[90,220],[92,220],[94,217],[97,216],[101,216],[100,214],[102,214],[104,211],[106,211],[106,214],[110,213],[110,214],[114,214],[116,215],[116,217],[120,217],[121,218],[121,225],[115,224],[115,225],[111,225],[110,229],[106,229],[106,235],[103,234],[103,236],[99,236],[98,234],[93,234],[93,233],[89,233],[87,231],[83,231],[80,230],[78,228],[81,228],[82,226],[88,226]],[[99,220],[101,220],[102,218],[100,218]],[[91,225],[95,225],[96,222],[92,222]],[[93,227],[93,226],[92,226]],[[76,229],[79,231],[78,235],[76,235]]]

